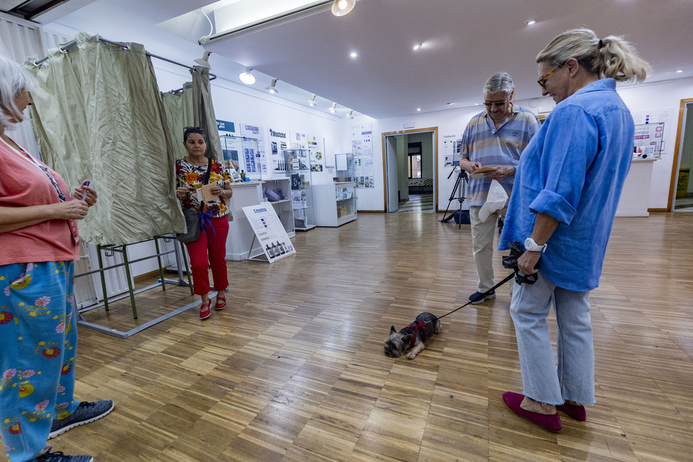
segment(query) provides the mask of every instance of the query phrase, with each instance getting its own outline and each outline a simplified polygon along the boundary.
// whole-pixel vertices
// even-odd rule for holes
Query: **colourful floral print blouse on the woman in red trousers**
[[[193,166],[192,163],[185,159],[175,161],[175,176],[179,186],[188,186],[190,190],[186,197],[182,200],[183,209],[197,208],[200,210],[200,201],[198,200],[197,190],[202,187],[204,176],[207,175],[207,163],[203,166]],[[229,172],[217,161],[212,160],[211,170],[209,170],[209,183],[216,183],[220,188],[224,189],[225,183],[231,183]],[[202,212],[211,210],[215,218],[223,217],[229,213],[229,207],[224,199],[219,197],[213,201],[204,202]]]

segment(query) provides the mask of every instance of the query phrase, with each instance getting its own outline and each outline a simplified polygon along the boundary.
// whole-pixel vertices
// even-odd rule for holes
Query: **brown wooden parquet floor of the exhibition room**
[[[558,434],[502,400],[522,391],[505,287],[443,319],[413,361],[383,354],[391,325],[476,289],[469,225],[440,218],[364,213],[297,233],[297,255],[272,265],[229,262],[229,306],[206,321],[193,308],[124,340],[81,329],[76,394],[116,407],[54,450],[99,462],[693,460],[693,214],[616,219],[590,298],[597,404],[586,422],[561,416]],[[138,310],[191,301],[150,290]],[[108,318],[134,326],[117,303]]]

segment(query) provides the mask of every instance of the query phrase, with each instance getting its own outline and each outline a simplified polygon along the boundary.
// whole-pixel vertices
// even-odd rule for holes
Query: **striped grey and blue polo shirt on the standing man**
[[[482,166],[517,166],[520,154],[539,131],[539,121],[534,113],[516,106],[513,114],[507,118],[498,129],[493,119],[484,111],[475,115],[467,124],[462,135],[462,157]],[[513,189],[515,176],[510,175],[500,180],[505,192]],[[467,185],[466,197],[470,206],[482,206],[486,202],[491,188],[489,178],[470,178]]]

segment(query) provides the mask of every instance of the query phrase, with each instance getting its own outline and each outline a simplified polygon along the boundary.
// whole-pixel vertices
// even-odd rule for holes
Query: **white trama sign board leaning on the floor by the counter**
[[[296,253],[272,204],[261,202],[258,205],[250,205],[243,207],[243,212],[255,233],[248,260],[260,260],[257,256],[264,253],[267,261],[274,263]],[[256,247],[255,242],[259,242],[259,247]],[[257,255],[254,256],[254,253]]]

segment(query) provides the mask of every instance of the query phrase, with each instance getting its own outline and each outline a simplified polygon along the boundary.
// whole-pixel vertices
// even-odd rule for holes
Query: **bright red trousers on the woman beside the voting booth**
[[[226,272],[226,237],[229,235],[229,219],[226,216],[212,218],[214,232],[200,229],[200,237],[195,242],[186,242],[193,273],[193,292],[195,295],[209,293],[209,271],[211,266],[214,289],[219,292],[229,287]],[[216,233],[216,234],[215,234]],[[209,253],[209,259],[207,254]]]

